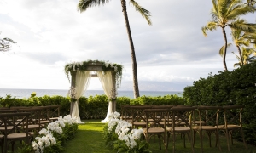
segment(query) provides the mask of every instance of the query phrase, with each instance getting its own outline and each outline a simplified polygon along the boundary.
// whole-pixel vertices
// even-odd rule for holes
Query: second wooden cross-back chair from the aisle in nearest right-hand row
[[[188,135],[191,150],[194,152],[193,147],[193,132],[191,116],[195,111],[195,107],[190,106],[174,106],[171,108],[172,127],[166,127],[168,132],[168,139],[172,135],[172,152],[175,152],[176,134],[180,133],[183,138],[183,146],[186,148],[186,135]],[[169,140],[168,140],[169,141]],[[167,144],[168,146],[168,144]]]

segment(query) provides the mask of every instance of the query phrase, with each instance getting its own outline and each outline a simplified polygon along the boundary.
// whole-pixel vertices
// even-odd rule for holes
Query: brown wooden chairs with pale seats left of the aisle
[[[60,105],[0,108],[0,147],[6,153],[15,142],[31,142],[33,136],[60,116]]]

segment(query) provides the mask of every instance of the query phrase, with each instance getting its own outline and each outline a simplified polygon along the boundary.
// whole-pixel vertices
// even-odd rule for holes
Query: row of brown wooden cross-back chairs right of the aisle
[[[165,149],[169,144],[172,135],[172,152],[175,152],[177,133],[183,138],[183,145],[186,147],[185,136],[189,138],[191,149],[194,152],[195,135],[199,133],[201,141],[201,152],[203,152],[203,135],[207,133],[209,146],[211,147],[211,135],[215,134],[215,146],[221,150],[219,133],[223,132],[228,150],[230,141],[233,144],[232,133],[240,131],[241,138],[247,149],[244,140],[241,122],[241,112],[244,105],[229,106],[183,106],[183,105],[121,105],[121,118],[131,122],[133,127],[143,127],[147,142],[151,135],[162,138]],[[220,117],[221,116],[221,117]],[[161,144],[161,143],[160,143]],[[161,149],[161,146],[160,146]]]

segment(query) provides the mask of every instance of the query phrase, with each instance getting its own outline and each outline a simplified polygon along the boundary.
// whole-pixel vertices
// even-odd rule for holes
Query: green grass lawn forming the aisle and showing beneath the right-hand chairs
[[[68,141],[65,144],[65,153],[111,153],[113,150],[109,150],[105,147],[103,138],[103,126],[104,124],[101,123],[100,120],[86,120],[84,121],[85,124],[79,125],[78,133],[76,134],[75,138]],[[195,153],[201,152],[199,138],[195,142]],[[214,144],[214,136],[212,136],[212,145]],[[218,148],[209,147],[208,139],[206,137],[204,141],[204,152],[207,153],[216,153],[220,152]],[[228,152],[226,139],[221,136],[220,139],[222,153]],[[256,153],[256,146],[247,144],[248,149],[245,150],[244,145],[241,142],[234,141],[234,145],[231,145],[230,152],[231,153]],[[159,149],[158,139],[154,142],[150,142],[150,150],[153,153],[165,152],[165,150]],[[172,142],[169,144],[168,151],[172,152]],[[190,148],[190,144],[187,142],[187,148],[183,148],[183,139],[179,139],[177,137],[176,143],[176,152],[177,153],[187,153],[192,152]]]

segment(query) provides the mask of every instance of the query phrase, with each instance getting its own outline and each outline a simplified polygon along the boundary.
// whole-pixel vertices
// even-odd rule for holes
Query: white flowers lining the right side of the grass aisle
[[[119,117],[120,114],[118,112],[114,112],[109,116],[108,131],[111,132],[113,127],[117,125],[115,133],[118,134],[118,139],[125,141],[125,144],[132,149],[137,146],[136,140],[141,138],[143,129],[135,128],[131,130],[131,123],[120,120]]]

